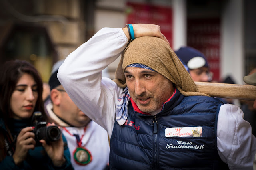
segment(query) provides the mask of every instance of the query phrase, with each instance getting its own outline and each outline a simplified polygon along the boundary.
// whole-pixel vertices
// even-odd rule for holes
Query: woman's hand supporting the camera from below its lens
[[[54,125],[54,123],[50,123],[47,126]],[[50,144],[47,144],[45,140],[40,140],[39,142],[42,143],[42,146],[51,158],[54,166],[62,166],[66,162],[66,159],[64,158],[64,142],[62,140],[62,134],[60,135],[59,140],[50,142]]]

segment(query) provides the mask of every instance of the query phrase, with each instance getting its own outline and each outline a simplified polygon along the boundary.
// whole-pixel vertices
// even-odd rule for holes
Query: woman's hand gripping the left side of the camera
[[[34,132],[31,132],[34,127],[23,128],[17,136],[16,149],[12,156],[16,165],[19,165],[26,159],[29,149],[34,149],[36,140]]]

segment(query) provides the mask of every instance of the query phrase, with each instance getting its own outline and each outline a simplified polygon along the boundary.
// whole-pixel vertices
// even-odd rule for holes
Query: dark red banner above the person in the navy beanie
[[[213,80],[220,78],[220,20],[218,18],[188,19],[188,46],[204,53]]]

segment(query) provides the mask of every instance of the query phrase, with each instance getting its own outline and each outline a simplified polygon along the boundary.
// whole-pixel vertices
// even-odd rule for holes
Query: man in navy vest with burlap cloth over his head
[[[102,77],[120,54],[116,79]],[[102,28],[58,79],[108,131],[110,169],[252,169],[256,138],[241,109],[200,93],[157,25]]]

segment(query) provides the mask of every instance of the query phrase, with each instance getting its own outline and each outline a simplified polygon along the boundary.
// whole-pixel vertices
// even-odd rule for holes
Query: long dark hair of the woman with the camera
[[[36,81],[38,86],[38,99],[34,111],[42,112],[42,115],[44,115],[46,119],[42,99],[43,85],[40,74],[32,64],[17,59],[7,61],[0,67],[0,117],[4,119],[4,121],[8,121],[9,118],[13,116],[13,112],[10,109],[10,98],[16,88],[18,80],[24,73],[31,75],[34,81]]]

